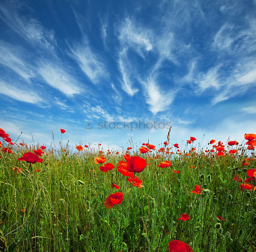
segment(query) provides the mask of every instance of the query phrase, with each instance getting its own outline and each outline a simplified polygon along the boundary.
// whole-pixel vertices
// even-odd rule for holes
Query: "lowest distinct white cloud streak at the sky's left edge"
[[[20,86],[20,85],[19,85]],[[0,81],[0,93],[4,96],[9,96],[15,100],[19,100],[21,102],[28,102],[32,104],[38,104],[39,102],[43,102],[41,98],[39,98],[38,94],[30,90],[21,90],[15,86],[7,85],[5,82]]]

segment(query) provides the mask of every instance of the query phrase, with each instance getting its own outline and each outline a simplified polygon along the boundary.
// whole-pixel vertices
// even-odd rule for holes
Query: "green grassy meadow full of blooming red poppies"
[[[51,146],[5,130],[0,251],[255,252],[256,134],[181,148],[169,130],[162,143],[105,150],[70,148],[64,129]]]

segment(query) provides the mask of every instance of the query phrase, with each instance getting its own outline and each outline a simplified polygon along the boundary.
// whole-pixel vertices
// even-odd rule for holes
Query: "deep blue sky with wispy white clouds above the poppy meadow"
[[[1,1],[1,127],[49,145],[256,133],[256,1]],[[85,129],[88,123],[92,129]]]

